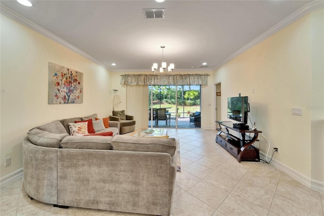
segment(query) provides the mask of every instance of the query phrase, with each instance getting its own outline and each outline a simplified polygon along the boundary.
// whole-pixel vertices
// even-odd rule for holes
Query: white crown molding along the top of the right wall
[[[291,23],[293,23],[294,21],[296,21],[299,18],[303,17],[304,15],[308,14],[309,12],[315,11],[315,10],[323,8],[323,7],[324,7],[324,1],[321,1],[321,0],[316,0],[314,2],[306,4],[305,6],[303,6],[302,8],[298,9],[297,11],[292,13],[290,16],[285,18],[284,20],[282,20],[279,23],[277,23],[276,25],[274,25],[272,28],[268,29],[266,32],[261,34],[258,38],[254,39],[253,41],[251,41],[250,43],[248,43],[244,47],[240,48],[239,50],[237,50],[236,52],[234,52],[233,54],[231,54],[230,56],[225,58],[223,61],[219,62],[213,68],[213,70],[216,70],[217,68],[224,65],[226,62],[232,60],[236,56],[238,56],[238,55],[244,53],[245,51],[251,49],[252,47],[256,46],[260,42],[262,42],[265,39],[269,38],[272,34],[278,32],[282,28],[285,28],[286,26],[290,25]]]

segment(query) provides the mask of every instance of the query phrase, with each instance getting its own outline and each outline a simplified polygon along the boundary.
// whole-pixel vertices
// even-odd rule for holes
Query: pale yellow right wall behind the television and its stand
[[[323,107],[322,20],[322,10],[305,15],[218,68],[214,82],[222,84],[222,110],[227,97],[249,96],[249,116],[271,143],[270,152],[279,147],[277,161],[324,183],[323,110],[308,109]],[[293,107],[301,107],[303,115],[293,116]],[[226,112],[222,119],[227,120]],[[261,151],[266,153],[267,147],[262,138]]]

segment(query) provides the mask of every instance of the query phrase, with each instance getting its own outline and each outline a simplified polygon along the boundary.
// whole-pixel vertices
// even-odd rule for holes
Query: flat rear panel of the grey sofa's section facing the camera
[[[58,161],[58,205],[170,215],[167,153],[60,149]]]

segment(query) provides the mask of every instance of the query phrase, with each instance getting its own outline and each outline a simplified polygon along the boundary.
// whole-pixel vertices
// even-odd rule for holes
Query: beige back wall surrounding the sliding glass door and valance
[[[151,74],[152,72],[136,72],[136,74]],[[148,99],[144,96],[136,97],[135,95],[131,97],[130,91],[134,92],[142,92],[142,87],[127,87],[125,85],[120,85],[120,75],[122,74],[134,74],[133,72],[114,72],[112,73],[112,80],[115,82],[112,83],[112,89],[118,89],[118,97],[123,101],[122,103],[115,106],[115,110],[126,110],[127,113],[134,115],[136,120],[136,128],[147,127],[148,117],[147,115],[137,115],[141,110],[147,110],[148,107]],[[201,71],[180,71],[174,72],[174,74],[201,74]],[[205,72],[204,72],[205,74]],[[207,73],[212,75],[212,73]],[[132,88],[132,90],[128,90]],[[214,116],[213,114],[213,104],[214,104],[214,86],[213,86],[213,76],[208,77],[208,85],[201,86],[201,128],[203,129],[212,129],[214,127],[215,120],[211,118]],[[129,93],[127,93],[129,92]],[[148,91],[147,91],[148,94]],[[129,98],[127,98],[129,97]],[[120,101],[119,100],[119,101]],[[126,102],[124,102],[126,101]],[[136,101],[136,103],[134,102]],[[129,104],[127,104],[129,103]],[[130,107],[134,107],[133,110]]]

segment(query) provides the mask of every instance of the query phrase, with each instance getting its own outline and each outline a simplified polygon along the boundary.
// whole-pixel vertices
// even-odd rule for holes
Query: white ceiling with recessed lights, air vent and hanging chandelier
[[[211,70],[312,1],[16,1],[2,6],[55,34],[112,71],[160,65]],[[165,19],[143,9],[165,8]],[[116,63],[112,66],[111,63]]]

